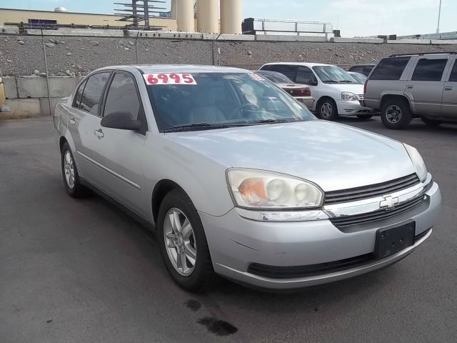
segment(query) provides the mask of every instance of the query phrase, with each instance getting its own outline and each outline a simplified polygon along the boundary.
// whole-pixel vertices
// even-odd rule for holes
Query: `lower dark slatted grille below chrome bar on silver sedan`
[[[330,222],[338,228],[351,227],[352,225],[366,224],[378,220],[388,219],[398,216],[399,214],[411,211],[420,206],[423,202],[423,196],[398,204],[393,209],[378,209],[378,211],[356,214],[353,216],[331,218]]]

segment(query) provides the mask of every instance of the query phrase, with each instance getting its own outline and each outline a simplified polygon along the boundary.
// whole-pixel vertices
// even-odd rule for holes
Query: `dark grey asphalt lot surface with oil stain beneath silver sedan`
[[[223,280],[195,295],[171,281],[148,229],[100,197],[67,196],[51,119],[0,121],[0,342],[456,342],[457,126],[341,122],[421,151],[443,194],[431,238],[305,292]]]

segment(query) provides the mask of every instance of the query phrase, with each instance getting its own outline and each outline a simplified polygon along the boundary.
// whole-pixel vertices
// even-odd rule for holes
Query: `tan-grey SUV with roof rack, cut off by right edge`
[[[389,129],[414,117],[431,126],[457,122],[457,54],[392,55],[382,59],[365,86],[364,104],[381,109]]]

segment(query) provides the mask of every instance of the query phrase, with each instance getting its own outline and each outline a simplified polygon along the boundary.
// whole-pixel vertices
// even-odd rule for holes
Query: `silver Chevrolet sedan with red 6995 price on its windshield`
[[[111,66],[56,107],[64,187],[156,230],[174,281],[298,289],[371,272],[432,233],[416,149],[317,120],[251,71]]]

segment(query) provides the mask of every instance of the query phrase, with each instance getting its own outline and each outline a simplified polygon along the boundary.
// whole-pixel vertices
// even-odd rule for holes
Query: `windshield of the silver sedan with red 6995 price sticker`
[[[196,73],[145,75],[161,132],[199,131],[316,119],[308,109],[258,74]],[[173,81],[170,82],[171,76]],[[189,84],[177,83],[176,76]]]

